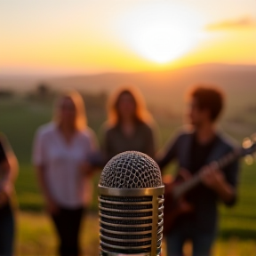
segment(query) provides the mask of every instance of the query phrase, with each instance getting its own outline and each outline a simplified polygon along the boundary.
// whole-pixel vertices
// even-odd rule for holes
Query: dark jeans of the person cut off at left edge
[[[14,218],[12,206],[0,207],[0,256],[12,256],[14,238]]]

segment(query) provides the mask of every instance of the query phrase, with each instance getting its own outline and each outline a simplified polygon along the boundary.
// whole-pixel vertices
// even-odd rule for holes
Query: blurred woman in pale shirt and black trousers
[[[33,162],[46,211],[60,237],[60,255],[76,256],[81,253],[81,220],[92,197],[90,157],[96,141],[78,92],[61,95],[55,112],[53,121],[36,132]]]

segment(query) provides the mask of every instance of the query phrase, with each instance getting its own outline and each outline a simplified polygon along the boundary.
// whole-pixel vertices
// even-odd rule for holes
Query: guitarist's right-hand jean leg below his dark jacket
[[[192,236],[193,256],[210,256],[215,232],[197,233]]]

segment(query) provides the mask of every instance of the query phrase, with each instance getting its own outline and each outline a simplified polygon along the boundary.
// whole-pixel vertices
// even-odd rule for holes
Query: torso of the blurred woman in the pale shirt
[[[58,130],[44,134],[45,178],[53,198],[65,207],[84,204],[84,193],[91,186],[80,170],[91,153],[90,136],[76,132],[71,141],[65,141]]]

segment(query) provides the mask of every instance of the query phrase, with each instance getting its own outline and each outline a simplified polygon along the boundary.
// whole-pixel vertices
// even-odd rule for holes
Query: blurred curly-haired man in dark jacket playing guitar
[[[168,256],[182,256],[183,245],[188,240],[193,244],[193,256],[210,255],[217,234],[217,203],[222,201],[228,206],[236,203],[238,161],[223,170],[204,167],[235,147],[216,128],[223,101],[223,92],[217,87],[198,85],[194,88],[189,93],[190,129],[181,131],[157,157],[156,162],[162,171],[176,160],[177,175],[183,180],[198,175],[199,170],[201,175],[201,183],[180,200],[180,214],[165,236]]]

